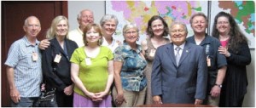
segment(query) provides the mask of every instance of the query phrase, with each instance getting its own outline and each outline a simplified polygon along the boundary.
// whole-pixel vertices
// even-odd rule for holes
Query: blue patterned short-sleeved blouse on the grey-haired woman
[[[127,43],[124,43],[113,53],[113,60],[123,62],[120,77],[125,90],[142,91],[147,86],[147,80],[143,75],[147,61],[140,55],[141,52],[140,45],[137,44],[135,51]]]

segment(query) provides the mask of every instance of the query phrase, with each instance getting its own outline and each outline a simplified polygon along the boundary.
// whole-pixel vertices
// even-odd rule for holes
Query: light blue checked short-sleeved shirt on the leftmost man
[[[9,48],[5,65],[14,68],[15,87],[21,97],[38,97],[40,95],[40,83],[43,81],[41,54],[36,45],[32,45],[27,37],[15,41]],[[32,53],[38,54],[38,60],[32,60]]]

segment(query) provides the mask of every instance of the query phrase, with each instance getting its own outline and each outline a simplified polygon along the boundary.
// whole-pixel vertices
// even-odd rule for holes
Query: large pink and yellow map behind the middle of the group
[[[125,24],[136,23],[140,30],[140,39],[144,40],[148,20],[153,15],[162,16],[168,25],[172,20],[183,21],[188,27],[189,35],[193,31],[189,25],[189,18],[192,14],[203,12],[207,14],[208,2],[203,1],[106,1],[106,14],[114,14],[119,19],[119,25],[114,38],[122,41],[122,29]]]

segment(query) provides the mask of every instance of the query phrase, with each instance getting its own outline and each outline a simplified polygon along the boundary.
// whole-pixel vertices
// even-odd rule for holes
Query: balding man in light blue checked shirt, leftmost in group
[[[38,49],[38,33],[41,31],[40,21],[35,16],[26,18],[25,36],[12,43],[7,60],[7,79],[12,107],[37,106],[41,94],[40,84],[43,81],[41,54]]]

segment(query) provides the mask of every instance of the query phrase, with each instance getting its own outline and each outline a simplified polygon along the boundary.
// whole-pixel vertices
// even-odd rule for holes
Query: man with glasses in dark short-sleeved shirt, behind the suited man
[[[218,47],[220,46],[218,39],[206,33],[207,16],[203,13],[193,14],[189,22],[194,31],[194,36],[188,37],[187,41],[202,46],[207,54],[207,99],[204,104],[218,106],[227,61],[224,54],[218,53]]]

